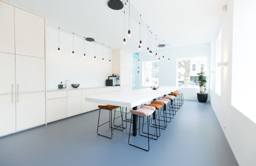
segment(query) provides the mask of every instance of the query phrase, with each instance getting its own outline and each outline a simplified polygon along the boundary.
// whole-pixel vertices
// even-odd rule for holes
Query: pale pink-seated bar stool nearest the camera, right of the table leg
[[[135,144],[131,144],[131,143],[130,143],[130,136],[131,136],[132,133],[135,132],[135,131],[134,131],[134,132],[131,133],[131,123],[130,123],[130,131],[129,131],[128,143],[129,143],[130,146],[134,146],[134,147],[139,148],[139,149],[142,149],[142,150],[144,150],[144,151],[149,151],[149,141],[150,141],[150,139],[153,137],[152,135],[154,135],[154,134],[150,134],[150,133],[149,133],[149,119],[150,119],[150,116],[152,115],[152,113],[154,113],[155,111],[154,111],[154,110],[150,110],[150,109],[145,109],[145,108],[139,108],[139,109],[137,109],[137,110],[131,110],[130,112],[132,113],[132,115],[137,115],[137,116],[139,116],[139,128],[136,128],[136,131],[137,131],[138,129],[139,129],[139,131],[140,131],[140,117],[141,117],[141,116],[142,116],[142,117],[147,117],[147,136],[144,136],[144,137],[147,137],[147,149],[142,148],[142,147],[139,147],[139,146],[136,146]],[[132,117],[133,117],[133,116],[131,116],[131,119],[132,119]],[[144,125],[144,124],[142,124],[142,125]],[[155,127],[155,128],[156,128],[156,127]],[[156,129],[156,131],[157,131],[157,129]],[[150,137],[150,136],[152,136],[152,137]]]

